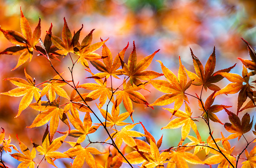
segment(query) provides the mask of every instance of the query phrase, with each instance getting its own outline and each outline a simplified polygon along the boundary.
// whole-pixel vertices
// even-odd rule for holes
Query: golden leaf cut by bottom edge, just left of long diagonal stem
[[[84,164],[84,161],[90,168],[96,168],[96,163],[93,158],[93,155],[99,155],[104,154],[102,152],[99,152],[95,148],[81,147],[80,144],[76,145],[75,143],[69,143],[73,148],[69,148],[64,154],[68,155],[69,157],[74,158],[72,168],[81,168]]]

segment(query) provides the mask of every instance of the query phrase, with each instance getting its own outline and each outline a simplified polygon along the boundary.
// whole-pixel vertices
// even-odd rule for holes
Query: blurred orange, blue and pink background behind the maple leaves
[[[77,31],[81,24],[80,39],[95,28],[93,32],[93,42],[109,38],[106,45],[115,56],[129,42],[129,47],[125,54],[127,60],[132,50],[132,41],[135,41],[138,60],[153,53],[155,50],[160,51],[155,55],[150,67],[157,72],[161,72],[159,63],[155,60],[161,60],[166,67],[177,74],[178,56],[180,55],[183,65],[193,71],[192,59],[189,47],[193,53],[200,59],[204,65],[212,52],[213,46],[216,47],[216,70],[227,68],[237,63],[231,71],[241,74],[241,63],[237,57],[248,59],[246,45],[240,37],[246,39],[250,44],[256,44],[256,1],[254,0],[0,0],[0,26],[2,29],[12,29],[20,31],[19,18],[21,6],[25,17],[29,20],[32,30],[38,22],[38,16],[41,18],[41,30],[43,38],[45,31],[53,24],[52,32],[60,37],[63,26],[63,17],[65,17],[71,32]],[[0,50],[10,46],[2,33],[0,33]],[[97,51],[100,53],[100,49]],[[7,77],[24,78],[24,67],[27,73],[35,78],[36,83],[43,82],[56,74],[50,68],[49,63],[42,56],[33,56],[32,61],[23,64],[14,71],[10,71],[16,63],[18,56],[0,55],[0,79]],[[61,62],[53,61],[54,66],[59,72],[65,71],[65,77],[70,77],[67,67],[71,65],[69,59],[60,58]],[[80,82],[91,82],[85,80],[89,74],[83,70],[79,64],[75,67],[75,80]],[[92,68],[93,70],[93,68]],[[223,87],[226,80],[219,83]],[[6,92],[14,88],[14,85],[8,81],[0,80],[0,92]],[[68,87],[66,87],[68,90]],[[156,98],[162,95],[161,92],[148,86],[150,93],[143,91],[147,101],[152,103]],[[71,90],[68,90],[69,93]],[[196,87],[189,88],[189,92],[199,94],[200,89]],[[203,92],[203,98],[212,92],[208,90]],[[7,135],[11,135],[11,143],[18,147],[16,134],[29,149],[32,148],[30,139],[40,144],[42,134],[46,126],[40,128],[26,129],[38,112],[27,108],[18,118],[14,118],[20,98],[0,95],[0,127],[3,127]],[[190,107],[194,116],[200,116],[198,103],[189,97]],[[237,94],[226,97],[218,96],[215,104],[232,105],[231,111],[236,111]],[[93,105],[93,103],[92,103]],[[160,130],[166,126],[170,114],[168,111],[155,107],[154,110],[144,108],[141,105],[134,106],[134,122],[143,122],[147,130],[158,140],[163,134],[163,145],[160,150],[176,146],[180,141],[180,128],[176,130]],[[166,106],[168,108],[173,105]],[[96,110],[96,108],[94,108]],[[184,110],[182,106],[182,110]],[[121,112],[125,112],[121,108]],[[254,110],[247,111],[250,115]],[[99,113],[98,113],[99,114]],[[244,112],[240,115],[243,115]],[[84,114],[81,114],[81,116]],[[100,114],[99,114],[100,115]],[[81,118],[83,118],[83,116]],[[228,122],[226,114],[221,111],[217,113],[219,119],[224,123]],[[241,117],[241,116],[240,116]],[[92,117],[94,123],[97,121]],[[129,121],[128,121],[129,122]],[[220,124],[212,123],[214,137],[220,137],[220,131],[227,136],[227,132]],[[206,141],[208,130],[203,121],[197,124],[202,139]],[[65,130],[65,126],[60,125],[59,130]],[[143,132],[141,126],[134,127],[135,130]],[[190,135],[194,135],[190,132]],[[56,135],[58,136],[58,135]],[[252,135],[247,135],[248,139],[253,139]],[[90,135],[92,140],[105,140],[106,135],[99,129],[95,134]],[[185,142],[188,142],[187,140]],[[244,140],[237,139],[230,141],[231,146],[236,146],[234,155],[241,151],[245,144]],[[86,145],[87,142],[84,142]],[[68,146],[63,145],[63,148]],[[96,148],[106,150],[100,145],[94,145]],[[60,150],[61,151],[61,150]],[[198,156],[203,159],[204,152]],[[3,161],[9,167],[17,167],[19,162],[12,159],[5,153],[2,156]],[[98,157],[100,162],[102,157]],[[39,160],[38,160],[39,161]],[[36,160],[36,162],[38,163]],[[69,168],[68,163],[71,160],[56,161],[59,167]],[[48,167],[41,164],[41,168]],[[193,165],[189,165],[193,166]],[[86,167],[86,166],[84,166]],[[127,167],[123,164],[122,166]],[[198,167],[198,166],[195,166]],[[208,166],[200,166],[207,168]],[[217,166],[215,166],[217,167]],[[214,166],[212,168],[215,168]]]

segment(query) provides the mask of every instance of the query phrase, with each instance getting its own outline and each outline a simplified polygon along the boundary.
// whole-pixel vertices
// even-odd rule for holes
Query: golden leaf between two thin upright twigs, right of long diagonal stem
[[[111,98],[111,101],[113,102],[113,98],[111,97],[112,92],[111,88],[106,86],[106,81],[102,79],[94,79],[96,83],[84,83],[78,86],[78,88],[84,88],[87,90],[92,90],[88,95],[87,98],[91,100],[96,100],[99,98],[99,107],[102,107],[105,102],[106,98]]]

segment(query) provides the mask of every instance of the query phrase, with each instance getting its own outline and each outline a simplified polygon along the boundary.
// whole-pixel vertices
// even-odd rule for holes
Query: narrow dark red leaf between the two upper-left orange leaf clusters
[[[41,46],[35,46],[35,49],[40,53],[40,55],[47,55],[49,58],[56,59],[59,61],[59,59],[56,56],[60,56],[61,54],[58,54],[55,52],[58,50],[58,48],[55,45],[51,45],[51,36],[52,36],[52,24],[50,24],[49,30],[46,31],[46,35],[43,40],[43,44]]]

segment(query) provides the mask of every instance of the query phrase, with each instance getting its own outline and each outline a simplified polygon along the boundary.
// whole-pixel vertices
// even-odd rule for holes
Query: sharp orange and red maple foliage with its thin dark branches
[[[3,151],[10,153],[12,152],[11,148],[18,152],[10,154],[11,157],[20,162],[18,168],[34,168],[35,165],[39,168],[43,159],[54,167],[57,167],[54,164],[55,160],[71,160],[70,165],[72,168],[82,168],[85,163],[90,168],[119,168],[122,163],[128,164],[131,168],[133,168],[132,165],[134,164],[140,164],[140,168],[160,168],[162,166],[166,168],[188,168],[187,163],[209,165],[210,167],[218,164],[218,168],[254,168],[256,166],[256,138],[245,136],[250,131],[256,136],[256,124],[254,125],[254,131],[251,130],[253,128],[253,117],[251,119],[252,115],[248,113],[243,114],[241,119],[239,118],[244,110],[255,108],[256,100],[256,91],[253,85],[255,81],[251,81],[256,74],[256,51],[244,39],[242,40],[247,45],[251,60],[238,58],[243,64],[242,76],[229,73],[235,65],[214,72],[216,64],[215,47],[213,47],[213,52],[204,67],[190,48],[195,73],[186,69],[179,57],[179,68],[176,76],[160,60],[157,60],[157,62],[160,63],[162,73],[146,70],[159,49],[137,63],[135,42],[133,41],[128,62],[125,63],[124,54],[128,44],[113,59],[110,49],[106,46],[108,39],[100,39],[99,42],[92,44],[92,33],[94,31],[92,29],[79,42],[83,25],[72,35],[65,18],[61,33],[62,39],[52,35],[51,24],[48,31],[46,31],[44,41],[42,41],[40,38],[40,18],[32,33],[28,20],[25,18],[21,8],[20,15],[20,27],[23,35],[0,27],[0,31],[6,39],[15,44],[4,49],[0,54],[19,56],[16,66],[12,69],[15,70],[28,59],[31,61],[33,52],[37,52],[38,55],[46,58],[45,63],[49,63],[49,67],[56,75],[42,83],[35,84],[35,78],[33,79],[28,75],[24,68],[25,79],[16,77],[4,79],[17,87],[0,93],[1,95],[23,96],[15,118],[18,120],[18,116],[23,115],[21,112],[30,107],[38,111],[38,114],[31,125],[26,128],[33,129],[34,127],[46,125],[46,129],[42,136],[41,145],[37,145],[31,140],[32,150],[29,150],[17,135],[19,151],[11,144],[10,136],[5,139],[5,130],[1,128],[1,168],[7,168],[6,163],[1,158]],[[102,47],[101,55],[94,52],[100,47]],[[70,79],[66,79],[63,73],[60,73],[52,64],[52,59],[60,61],[57,57],[61,55],[63,55],[63,59],[70,59],[72,64],[71,67],[68,67]],[[93,79],[95,83],[79,84],[79,81],[75,80],[73,69],[78,62],[90,74],[86,78]],[[93,73],[90,69],[91,65],[99,72]],[[164,76],[166,80],[155,79],[160,76]],[[114,85],[113,78],[119,81],[119,85]],[[223,78],[232,83],[220,88],[215,83]],[[157,98],[153,103],[148,103],[142,92],[139,92],[141,90],[149,92],[148,85],[165,94]],[[199,87],[200,93],[193,95],[188,92],[191,85]],[[69,93],[64,86],[69,86],[72,91]],[[205,92],[211,92],[205,103],[203,103],[203,88]],[[88,92],[85,92],[84,89],[88,90]],[[213,104],[219,95],[237,92],[239,93],[236,113],[227,110],[227,108],[231,107],[229,105]],[[245,104],[247,98],[249,101]],[[97,99],[99,100],[95,101]],[[192,113],[189,99],[198,101],[198,110],[202,112],[201,115],[196,116]],[[33,100],[34,102],[32,103]],[[95,106],[94,103],[96,104]],[[121,103],[126,112],[120,113]],[[145,108],[151,107],[152,109],[153,106],[165,106],[174,103],[172,109],[162,107],[171,113],[170,122],[162,129],[181,127],[181,140],[177,147],[159,150],[164,135],[156,142],[142,122],[133,123],[132,114],[137,113],[133,108],[134,103],[142,104]],[[184,111],[180,110],[183,103],[185,106]],[[110,107],[111,114],[109,112]],[[214,114],[220,111],[228,116],[230,123],[223,124],[223,121]],[[97,120],[96,122],[92,121],[92,116]],[[129,117],[132,122],[124,122]],[[81,118],[83,118],[83,121],[81,121]],[[65,125],[65,131],[59,130],[61,122]],[[197,130],[197,122],[204,123],[208,128],[209,137],[206,141],[202,140],[201,133]],[[225,130],[231,134],[228,137],[224,137],[221,133],[221,137],[216,138],[213,134],[214,127],[212,122],[223,125]],[[47,123],[49,123],[49,126]],[[132,130],[136,125],[141,126],[144,132],[140,133]],[[90,134],[96,133],[99,129],[103,129],[108,137],[105,140],[101,137],[98,138],[98,141],[90,140]],[[191,129],[196,137],[189,135]],[[235,154],[235,147],[231,148],[229,140],[236,138],[237,141],[243,138],[246,141],[246,145],[236,150],[239,152]],[[87,146],[83,144],[85,140],[89,142]],[[184,143],[185,140],[190,142]],[[68,144],[71,147],[63,152],[57,151],[61,149],[62,144]],[[106,144],[108,148],[98,150],[89,147],[92,144]],[[248,151],[250,149],[249,146],[252,147],[250,151]],[[197,157],[200,151],[205,152],[204,160]],[[98,163],[94,155],[107,156],[101,157],[102,162]],[[244,155],[246,159],[242,158],[241,155]],[[36,163],[35,158],[40,156],[43,156],[40,159],[41,161]],[[239,161],[241,160],[243,162],[240,163]]]

